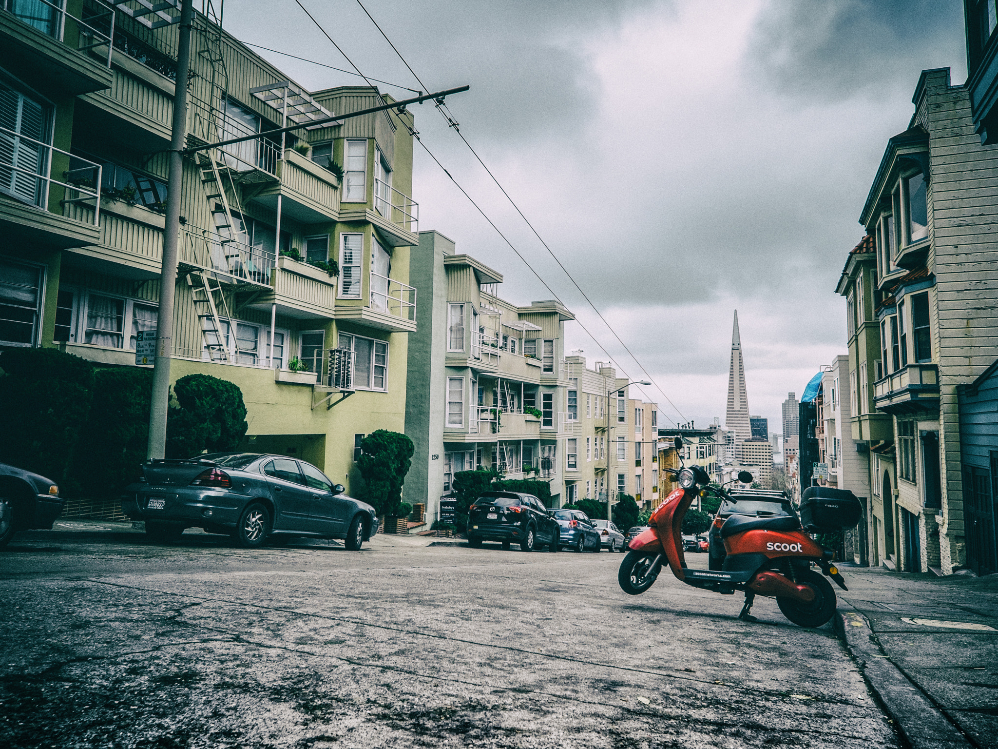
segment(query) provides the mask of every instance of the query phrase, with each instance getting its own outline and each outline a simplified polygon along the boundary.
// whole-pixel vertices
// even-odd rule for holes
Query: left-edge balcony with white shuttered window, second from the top
[[[65,170],[61,168],[65,167]],[[60,174],[63,180],[52,177]],[[0,127],[0,232],[5,241],[65,249],[100,237],[101,167]],[[51,208],[61,206],[59,213]]]

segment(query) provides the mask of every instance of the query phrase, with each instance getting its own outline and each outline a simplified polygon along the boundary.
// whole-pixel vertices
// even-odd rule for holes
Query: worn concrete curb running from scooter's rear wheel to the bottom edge
[[[974,746],[918,685],[890,661],[874,638],[866,617],[839,599],[832,623],[859,673],[912,749]]]

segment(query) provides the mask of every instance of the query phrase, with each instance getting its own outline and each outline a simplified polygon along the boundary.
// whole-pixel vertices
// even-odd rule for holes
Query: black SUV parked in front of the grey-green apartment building
[[[468,509],[468,545],[479,548],[482,541],[500,541],[503,548],[520,544],[524,551],[535,546],[558,550],[558,521],[548,514],[541,500],[518,491],[488,491]]]

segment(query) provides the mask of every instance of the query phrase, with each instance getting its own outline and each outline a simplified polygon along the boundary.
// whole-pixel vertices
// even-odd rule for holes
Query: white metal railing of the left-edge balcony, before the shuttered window
[[[69,160],[70,169],[63,173],[65,182],[51,177],[54,154]],[[0,193],[47,209],[53,185],[64,189],[64,206],[94,201],[94,216],[90,223],[100,226],[100,164],[0,127]]]

